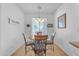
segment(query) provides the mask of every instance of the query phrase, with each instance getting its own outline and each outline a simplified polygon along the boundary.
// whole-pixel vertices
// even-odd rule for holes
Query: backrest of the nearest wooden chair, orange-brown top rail
[[[46,49],[47,35],[35,35],[35,49]]]

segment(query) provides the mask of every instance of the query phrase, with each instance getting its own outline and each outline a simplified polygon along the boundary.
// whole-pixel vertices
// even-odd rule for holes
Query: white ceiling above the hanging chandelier
[[[18,3],[17,6],[26,13],[54,13],[61,3]]]

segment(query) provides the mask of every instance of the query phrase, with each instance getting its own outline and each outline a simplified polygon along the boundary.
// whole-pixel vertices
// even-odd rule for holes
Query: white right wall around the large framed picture
[[[66,13],[66,29],[58,29],[57,28],[57,17],[61,16],[62,14]],[[60,8],[57,9],[55,13],[55,31],[56,31],[56,40],[61,43],[58,43],[59,46],[62,47],[64,51],[69,53],[70,55],[74,55],[75,52],[77,53],[77,50],[74,48],[70,48],[68,45],[64,42],[70,42],[70,41],[79,41],[79,4],[62,4]],[[64,42],[62,42],[64,40]],[[71,50],[74,50],[75,52],[72,52]],[[79,55],[79,54],[77,54]]]

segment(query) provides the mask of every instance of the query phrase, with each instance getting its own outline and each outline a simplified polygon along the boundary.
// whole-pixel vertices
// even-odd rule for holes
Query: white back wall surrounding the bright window
[[[47,18],[47,23],[48,24],[53,24],[54,22],[54,18],[53,18],[53,14],[40,14],[41,17],[43,18]],[[39,14],[25,14],[25,25],[26,24],[30,24],[32,26],[32,18],[38,18]],[[31,27],[27,28],[25,27],[25,32],[28,35],[29,33],[31,33]],[[53,32],[53,28],[48,28],[47,29],[48,34],[50,35]]]

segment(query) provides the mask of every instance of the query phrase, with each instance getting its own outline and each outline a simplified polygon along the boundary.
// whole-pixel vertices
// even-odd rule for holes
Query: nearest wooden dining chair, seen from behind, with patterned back
[[[46,42],[47,42],[47,35],[35,35],[35,46],[34,46],[34,52],[35,55],[38,56],[46,56]]]

